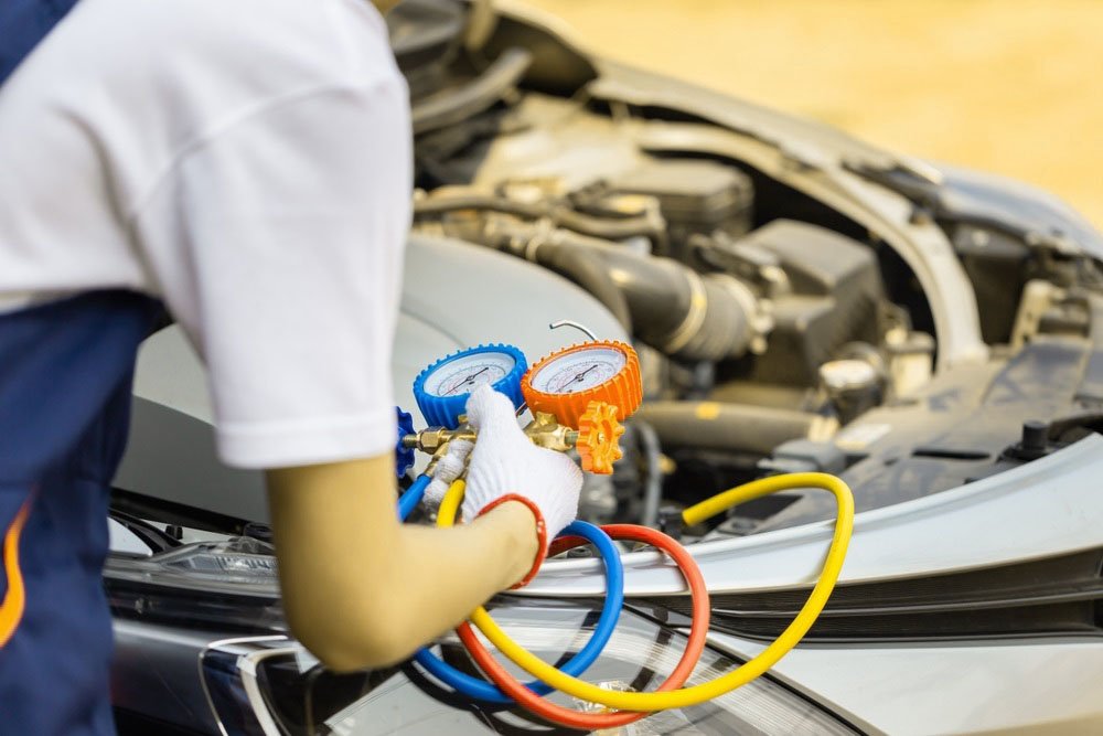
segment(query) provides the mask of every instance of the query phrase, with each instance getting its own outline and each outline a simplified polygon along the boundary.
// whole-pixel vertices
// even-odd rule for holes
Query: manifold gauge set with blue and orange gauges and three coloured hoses
[[[612,472],[620,458],[619,439],[624,429],[620,419],[639,408],[643,398],[640,360],[631,346],[615,341],[591,341],[566,348],[544,358],[531,369],[525,355],[512,345],[480,345],[437,361],[417,377],[414,396],[421,414],[430,423],[414,431],[413,418],[398,410],[398,473],[414,463],[414,451],[433,456],[421,476],[398,499],[398,518],[406,520],[420,502],[430,483],[433,463],[458,438],[475,439],[463,412],[471,392],[491,385],[508,396],[517,414],[528,408],[533,420],[525,427],[528,438],[554,450],[578,451],[582,469],[593,473]],[[771,493],[794,488],[821,488],[829,491],[838,504],[838,520],[824,569],[807,600],[789,627],[743,665],[709,682],[683,687],[694,671],[708,634],[708,588],[693,556],[674,538],[662,532],[634,524],[607,524],[598,527],[574,521],[552,543],[549,555],[579,544],[596,548],[606,568],[606,598],[601,616],[586,644],[561,666],[553,666],[526,651],[479,607],[470,623],[457,628],[460,641],[479,669],[483,680],[445,662],[428,648],[414,657],[422,669],[456,693],[492,705],[517,704],[552,723],[582,730],[619,729],[650,712],[705,703],[753,681],[800,642],[827,604],[838,579],[854,529],[854,499],[838,478],[824,473],[792,473],[762,478],[706,499],[682,512],[687,526],[725,513],[728,509]],[[437,525],[450,526],[463,499],[463,480],[452,481],[437,512]],[[612,540],[650,544],[666,553],[686,580],[693,611],[686,649],[677,666],[658,692],[615,692],[580,680],[579,675],[601,654],[617,626],[624,602],[624,568]],[[471,628],[474,625],[514,664],[537,681],[517,681],[482,644]],[[604,706],[601,712],[580,712],[543,697],[559,690],[576,700]]]

